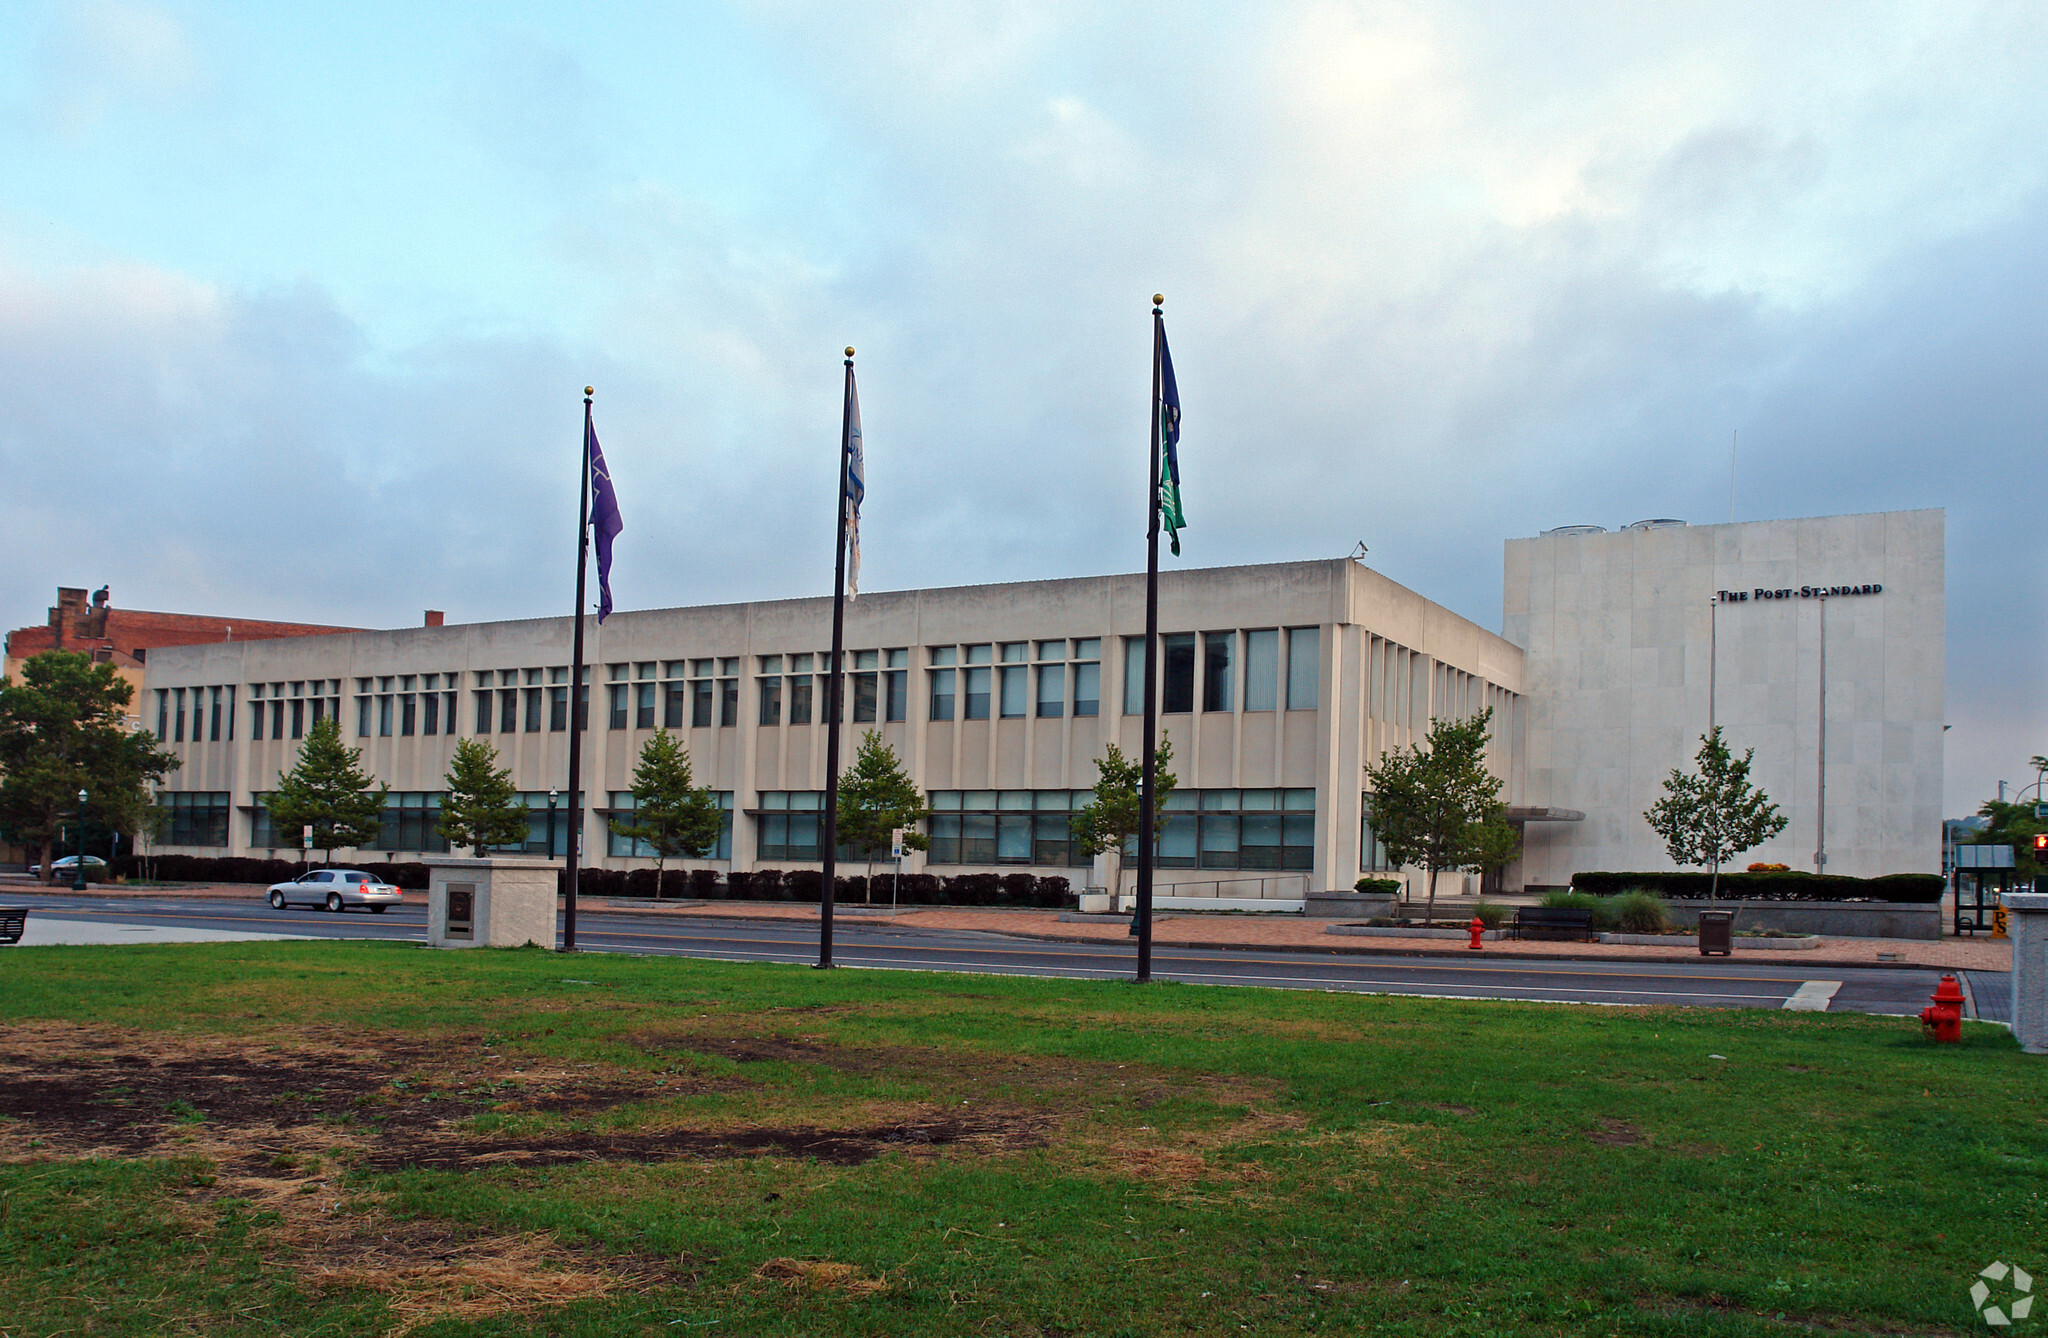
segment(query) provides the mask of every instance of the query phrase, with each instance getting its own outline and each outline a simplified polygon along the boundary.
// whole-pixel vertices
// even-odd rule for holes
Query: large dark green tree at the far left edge
[[[61,650],[23,662],[18,684],[0,678],[0,834],[41,848],[45,883],[66,824],[96,816],[119,830],[178,768],[154,734],[127,727],[133,697],[113,664]]]

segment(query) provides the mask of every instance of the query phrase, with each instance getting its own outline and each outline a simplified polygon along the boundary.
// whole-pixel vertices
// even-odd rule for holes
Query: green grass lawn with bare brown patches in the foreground
[[[0,1334],[1985,1332],[2044,1096],[1903,1018],[10,949]]]

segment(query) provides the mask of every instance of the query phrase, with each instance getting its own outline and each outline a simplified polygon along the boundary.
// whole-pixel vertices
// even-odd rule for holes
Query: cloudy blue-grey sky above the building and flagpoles
[[[2048,752],[2048,6],[0,8],[0,623],[1186,561],[1499,627],[1565,522],[1948,508],[1948,809]],[[84,541],[84,543],[82,543]],[[82,547],[90,551],[82,551]]]

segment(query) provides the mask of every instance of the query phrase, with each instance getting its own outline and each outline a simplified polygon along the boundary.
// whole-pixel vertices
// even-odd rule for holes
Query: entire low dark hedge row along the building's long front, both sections
[[[123,854],[109,871],[113,877],[141,877],[143,861]],[[315,863],[324,869],[326,863]],[[348,869],[373,873],[393,887],[426,891],[426,865],[367,865],[352,863]],[[154,877],[170,883],[283,883],[299,877],[303,867],[287,859],[213,859],[203,854],[156,854],[150,856]],[[756,869],[754,873],[725,875],[717,869],[666,869],[659,885],[653,869],[580,869],[575,887],[586,897],[678,897],[694,902],[743,900],[743,902],[817,902],[817,869]],[[889,902],[889,875],[874,879],[874,900]],[[840,902],[864,902],[868,879],[838,879]],[[1038,877],[1034,873],[961,873],[938,877],[932,873],[905,873],[897,887],[897,902],[903,906],[1067,906],[1073,887],[1061,875]]]

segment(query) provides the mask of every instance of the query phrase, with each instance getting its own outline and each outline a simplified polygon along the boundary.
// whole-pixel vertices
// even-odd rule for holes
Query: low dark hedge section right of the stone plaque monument
[[[698,902],[817,902],[817,869],[756,869],[721,875],[717,869],[668,869],[655,883],[653,869],[580,869],[578,895],[584,897],[690,897]],[[905,873],[901,879],[874,877],[874,902],[889,904],[891,881],[901,906],[1038,906],[1059,908],[1073,900],[1073,885],[1061,875],[1036,873]],[[838,902],[866,902],[868,879],[834,879]]]

